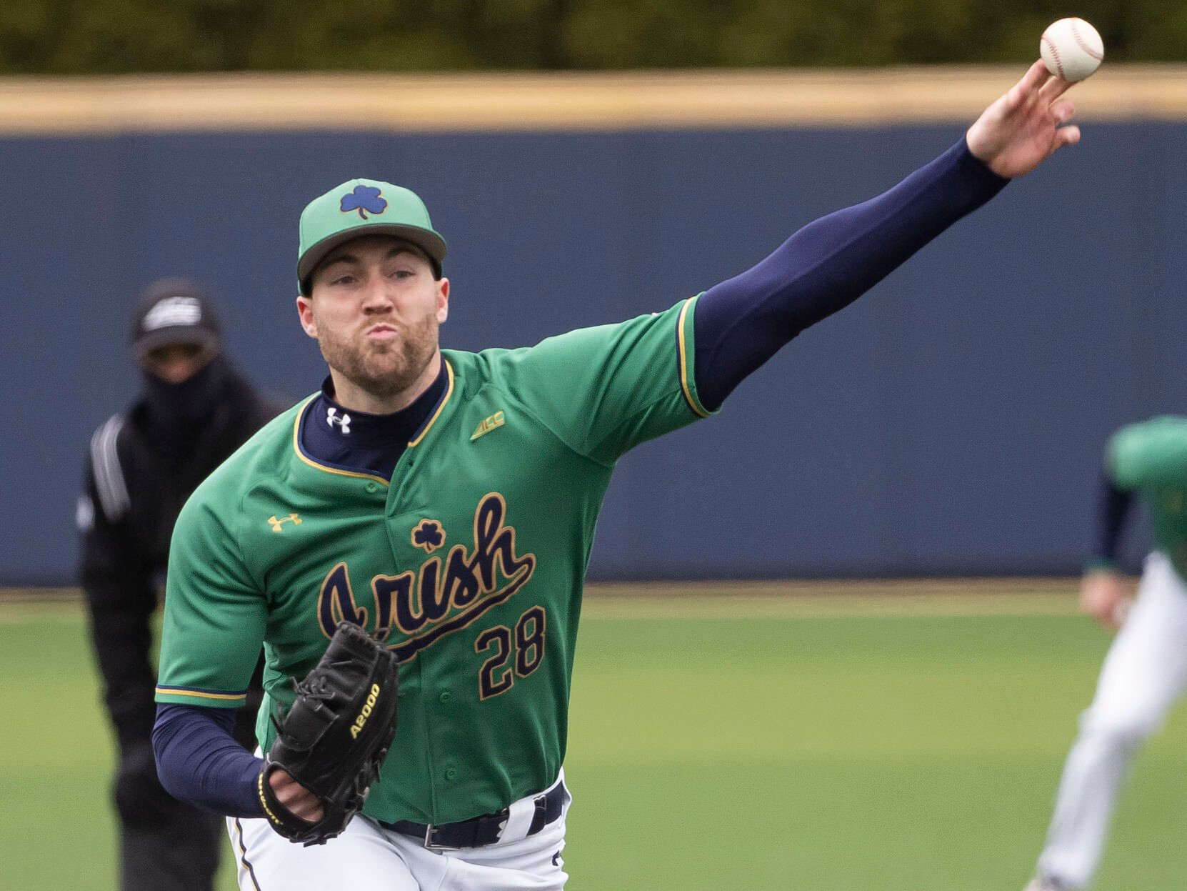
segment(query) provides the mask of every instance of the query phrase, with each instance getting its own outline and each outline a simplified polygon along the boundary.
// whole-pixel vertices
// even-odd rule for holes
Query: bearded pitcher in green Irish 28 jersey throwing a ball
[[[240,886],[563,887],[570,676],[615,462],[716,412],[799,331],[1075,143],[1068,86],[1036,63],[934,162],[748,272],[523,349],[439,348],[445,242],[411,191],[354,179],[310,202],[297,308],[329,378],[195,493],[169,571],[158,767],[229,815]],[[315,821],[322,800],[227,728],[262,642],[267,752],[269,713],[342,620],[395,653],[398,729],[362,817],[298,846],[265,805]]]

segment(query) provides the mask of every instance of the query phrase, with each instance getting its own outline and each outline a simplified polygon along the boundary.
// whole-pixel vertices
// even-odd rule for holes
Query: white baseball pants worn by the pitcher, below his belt
[[[240,891],[560,891],[569,878],[560,857],[567,813],[566,802],[535,835],[459,851],[430,851],[363,816],[310,847],[278,835],[262,817],[228,817],[227,828]]]

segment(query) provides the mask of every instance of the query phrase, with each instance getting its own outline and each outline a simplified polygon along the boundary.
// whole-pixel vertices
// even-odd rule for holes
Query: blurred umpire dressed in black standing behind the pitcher
[[[228,361],[218,321],[191,282],[150,285],[133,317],[132,350],[139,398],[91,437],[77,513],[82,587],[119,739],[122,887],[209,891],[222,817],[173,800],[157,779],[152,614],[182,505],[283,406],[261,398]],[[252,748],[259,669],[248,695],[235,735]]]

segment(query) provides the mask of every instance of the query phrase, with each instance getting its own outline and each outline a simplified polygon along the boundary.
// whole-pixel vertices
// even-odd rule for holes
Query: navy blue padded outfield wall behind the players
[[[267,388],[318,386],[293,308],[297,217],[349,177],[427,200],[450,245],[443,341],[475,349],[669,307],[959,137],[2,140],[0,583],[72,579],[82,457],[137,386],[126,327],[148,280],[207,283],[233,356]],[[1083,145],[804,334],[721,416],[628,455],[591,575],[1074,573],[1109,432],[1187,411],[1185,162],[1187,126],[1086,126]]]

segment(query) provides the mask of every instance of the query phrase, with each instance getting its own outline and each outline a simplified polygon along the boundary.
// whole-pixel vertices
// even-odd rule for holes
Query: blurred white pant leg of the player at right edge
[[[1145,561],[1137,598],[1100,669],[1064,765],[1039,872],[1091,881],[1126,767],[1187,687],[1187,583],[1167,557]]]

